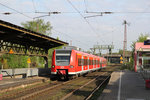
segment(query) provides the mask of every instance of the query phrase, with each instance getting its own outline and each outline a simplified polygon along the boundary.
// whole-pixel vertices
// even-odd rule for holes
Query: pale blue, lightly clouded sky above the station
[[[36,17],[43,14],[35,14],[36,11],[60,11],[76,12],[76,10],[67,2],[67,0],[0,0],[0,3],[16,9],[30,17]],[[50,21],[54,30],[52,37],[59,37],[63,41],[70,42],[72,45],[88,50],[94,44],[115,45],[114,52],[123,48],[124,20],[130,23],[127,28],[127,47],[138,36],[149,34],[150,13],[129,13],[129,12],[150,12],[149,0],[70,0],[73,5],[82,12],[83,16],[95,15],[86,14],[91,12],[120,12],[103,15],[99,17],[88,18],[88,22],[93,27],[92,30],[86,21],[78,13],[63,13],[44,17],[45,21]],[[86,6],[85,6],[86,5]],[[11,15],[3,15],[4,12],[13,12]],[[126,13],[128,12],[128,13]],[[16,13],[0,5],[0,19],[20,25],[21,22],[32,19]],[[59,31],[59,32],[58,32]]]

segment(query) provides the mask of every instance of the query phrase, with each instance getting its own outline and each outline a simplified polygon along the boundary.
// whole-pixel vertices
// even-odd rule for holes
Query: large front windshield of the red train
[[[68,66],[70,64],[71,51],[56,50],[56,66]]]

